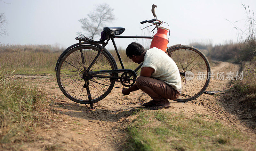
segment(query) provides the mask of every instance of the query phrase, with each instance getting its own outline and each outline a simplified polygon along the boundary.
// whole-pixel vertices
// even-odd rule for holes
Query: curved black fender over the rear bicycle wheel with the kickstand
[[[101,45],[99,45],[99,44],[90,44],[90,43],[86,43],[86,42],[81,43],[81,45],[93,45],[93,46],[96,46],[96,47],[101,48]],[[64,55],[66,52],[68,52],[70,49],[72,49],[72,48],[74,48],[74,47],[76,47],[76,46],[79,46],[79,43],[76,43],[76,44],[73,44],[73,45],[69,46],[66,50],[64,50],[64,51],[60,54],[60,57],[58,58],[57,63],[56,63],[56,66],[55,66],[55,71],[57,71],[57,68],[58,68],[60,59],[63,57],[63,55]],[[114,62],[115,66],[116,66],[116,69],[117,69],[116,60],[114,59],[114,57],[112,56],[112,54],[111,54],[106,48],[104,48],[103,51],[105,51],[105,52],[108,53],[108,55],[111,57],[112,61]]]

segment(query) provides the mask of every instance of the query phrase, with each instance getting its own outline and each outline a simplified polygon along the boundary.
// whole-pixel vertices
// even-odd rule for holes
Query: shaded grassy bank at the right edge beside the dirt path
[[[243,80],[234,81],[227,93],[221,96],[224,107],[237,112],[242,118],[256,119],[256,57],[244,63]],[[255,122],[254,122],[255,125]]]

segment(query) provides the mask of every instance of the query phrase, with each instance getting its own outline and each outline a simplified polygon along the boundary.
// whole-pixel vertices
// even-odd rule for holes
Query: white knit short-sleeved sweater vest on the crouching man
[[[143,67],[155,70],[151,77],[162,80],[175,90],[181,88],[180,72],[176,63],[161,49],[154,47],[147,50],[141,68]]]

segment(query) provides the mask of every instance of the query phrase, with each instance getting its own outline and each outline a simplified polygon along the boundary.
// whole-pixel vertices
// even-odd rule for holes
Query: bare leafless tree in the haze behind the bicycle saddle
[[[100,35],[106,23],[115,19],[113,10],[114,9],[106,3],[99,4],[95,7],[94,11],[87,14],[86,18],[82,18],[78,21],[82,24],[81,27],[86,34],[94,38],[94,36]],[[77,34],[81,34],[81,32],[77,32]]]

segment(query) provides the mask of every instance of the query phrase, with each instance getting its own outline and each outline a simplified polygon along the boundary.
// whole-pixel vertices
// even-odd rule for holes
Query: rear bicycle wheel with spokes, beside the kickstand
[[[86,68],[88,68],[92,60],[100,51],[100,48],[93,45],[82,45],[81,48],[84,54],[85,66]],[[86,89],[83,88],[85,82],[83,80],[83,68],[84,66],[82,64],[80,47],[76,46],[67,51],[61,57],[56,72],[57,83],[60,87],[60,90],[65,96],[68,97],[68,99],[76,103],[90,104]],[[103,50],[98,59],[93,64],[90,71],[114,69],[117,69],[114,60],[105,50]],[[118,76],[116,73],[101,75]],[[93,81],[96,81],[98,83],[95,83]],[[99,83],[103,83],[105,85],[101,85]],[[94,77],[89,80],[92,103],[104,99],[113,89],[114,84],[115,80],[110,80],[109,78],[107,79]]]

